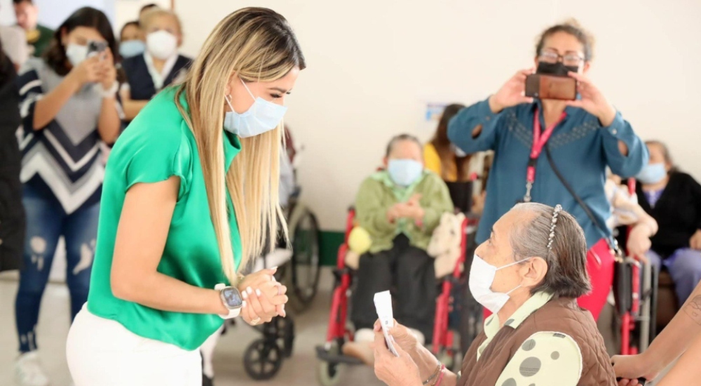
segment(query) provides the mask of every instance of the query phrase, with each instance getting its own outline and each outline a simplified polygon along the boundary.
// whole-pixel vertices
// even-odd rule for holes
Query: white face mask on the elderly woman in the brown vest
[[[494,267],[494,265],[489,265],[488,262],[482,260],[478,255],[475,255],[475,258],[472,259],[472,266],[470,267],[469,284],[472,297],[487,310],[491,311],[491,313],[496,314],[499,312],[506,302],[509,301],[509,294],[516,291],[521,285],[519,284],[516,288],[513,288],[507,293],[491,291],[491,285],[494,283],[496,272],[499,269],[511,267],[512,265],[517,265],[519,262],[526,260],[529,260],[529,258],[515,261],[501,267]]]

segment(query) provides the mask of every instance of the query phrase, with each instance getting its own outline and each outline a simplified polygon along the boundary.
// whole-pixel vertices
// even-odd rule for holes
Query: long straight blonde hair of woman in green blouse
[[[243,81],[275,81],[294,67],[306,67],[297,39],[282,15],[266,8],[243,8],[226,16],[207,37],[179,87],[175,101],[191,128],[207,190],[222,269],[231,283],[237,274],[226,207],[229,190],[241,235],[239,269],[263,253],[287,225],[278,202],[282,122],[272,131],[241,138],[241,151],[224,168],[224,93],[232,74]],[[185,93],[189,111],[179,102]],[[270,173],[267,173],[270,171]]]

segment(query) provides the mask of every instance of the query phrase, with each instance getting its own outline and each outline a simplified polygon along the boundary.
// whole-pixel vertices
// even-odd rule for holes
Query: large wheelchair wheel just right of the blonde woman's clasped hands
[[[290,305],[301,312],[311,304],[319,284],[319,225],[307,208],[299,216],[292,233],[292,265],[287,275],[292,289]]]

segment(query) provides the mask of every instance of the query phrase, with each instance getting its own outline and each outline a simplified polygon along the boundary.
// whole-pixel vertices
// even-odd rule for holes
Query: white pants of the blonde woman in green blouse
[[[68,333],[66,355],[76,386],[202,385],[199,350],[142,338],[86,306]]]

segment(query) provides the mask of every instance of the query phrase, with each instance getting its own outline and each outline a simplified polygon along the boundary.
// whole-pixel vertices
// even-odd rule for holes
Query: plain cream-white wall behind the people
[[[285,15],[306,54],[286,121],[306,145],[301,183],[324,229],[342,229],[346,206],[392,135],[430,137],[424,102],[485,98],[532,65],[542,29],[570,17],[597,36],[591,76],[599,88],[642,138],[668,142],[681,167],[701,178],[699,1],[248,3]],[[196,54],[238,5],[177,1],[184,51]]]

